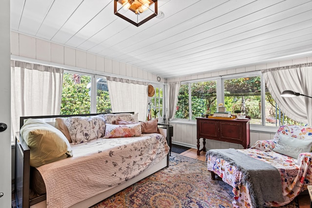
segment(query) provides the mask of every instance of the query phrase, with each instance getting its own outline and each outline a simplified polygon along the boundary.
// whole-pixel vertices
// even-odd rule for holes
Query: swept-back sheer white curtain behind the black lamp
[[[266,69],[262,74],[280,110],[295,121],[312,125],[312,98],[280,96],[285,90],[312,96],[312,63]]]

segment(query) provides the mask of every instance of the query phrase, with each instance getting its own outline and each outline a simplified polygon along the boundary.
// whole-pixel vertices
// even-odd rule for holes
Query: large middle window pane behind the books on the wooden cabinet
[[[261,124],[260,76],[224,80],[224,104],[227,111],[240,110],[252,124]]]

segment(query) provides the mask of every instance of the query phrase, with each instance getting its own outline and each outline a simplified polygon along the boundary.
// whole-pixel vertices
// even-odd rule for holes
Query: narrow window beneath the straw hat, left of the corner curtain
[[[163,94],[163,86],[154,85],[155,94],[151,97],[151,108],[152,108],[152,118],[162,117],[164,114],[164,94]]]

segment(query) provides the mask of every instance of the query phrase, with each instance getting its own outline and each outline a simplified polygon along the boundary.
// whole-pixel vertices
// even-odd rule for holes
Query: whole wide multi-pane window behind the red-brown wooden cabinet
[[[219,80],[222,85],[217,85]],[[224,103],[232,114],[235,114],[235,110],[241,110],[251,116],[251,124],[273,127],[304,125],[280,111],[262,80],[261,73],[256,72],[216,77],[207,81],[182,82],[175,118],[194,120],[205,114],[213,114],[217,111],[217,103]]]

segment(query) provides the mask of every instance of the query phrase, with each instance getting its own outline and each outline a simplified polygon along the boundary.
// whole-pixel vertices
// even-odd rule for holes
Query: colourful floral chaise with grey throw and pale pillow
[[[285,125],[250,149],[207,151],[207,167],[233,187],[233,207],[279,207],[312,185],[311,147],[312,127]]]

